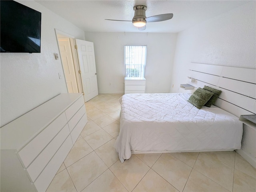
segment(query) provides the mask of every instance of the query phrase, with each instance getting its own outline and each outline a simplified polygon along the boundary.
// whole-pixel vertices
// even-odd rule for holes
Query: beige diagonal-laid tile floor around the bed
[[[256,169],[238,153],[136,154],[120,163],[122,94],[86,103],[88,123],[53,178],[48,192],[255,192]]]

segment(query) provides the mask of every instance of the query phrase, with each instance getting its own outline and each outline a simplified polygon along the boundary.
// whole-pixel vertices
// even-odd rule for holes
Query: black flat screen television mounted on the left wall
[[[41,13],[10,0],[0,7],[0,52],[40,53]]]

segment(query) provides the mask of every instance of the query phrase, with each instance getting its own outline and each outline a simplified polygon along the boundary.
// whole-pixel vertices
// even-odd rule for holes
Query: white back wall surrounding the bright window
[[[124,93],[124,45],[147,45],[146,93],[169,92],[176,35],[85,32],[94,42],[99,93]]]

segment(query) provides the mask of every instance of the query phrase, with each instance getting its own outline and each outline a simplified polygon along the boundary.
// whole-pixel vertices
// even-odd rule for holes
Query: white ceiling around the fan
[[[36,0],[84,31],[139,32],[132,22],[135,5],[146,5],[146,16],[173,13],[171,20],[146,24],[142,32],[177,33],[228,12],[248,1],[238,0]]]

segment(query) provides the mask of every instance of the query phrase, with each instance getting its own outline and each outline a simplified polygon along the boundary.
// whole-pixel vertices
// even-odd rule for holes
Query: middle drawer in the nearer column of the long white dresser
[[[32,182],[36,180],[40,172],[44,169],[47,163],[52,159],[56,151],[68,137],[70,131],[68,125],[66,125],[58,135],[49,143],[49,145],[38,155],[38,157],[33,161],[33,163],[27,168],[28,174],[32,179]]]

